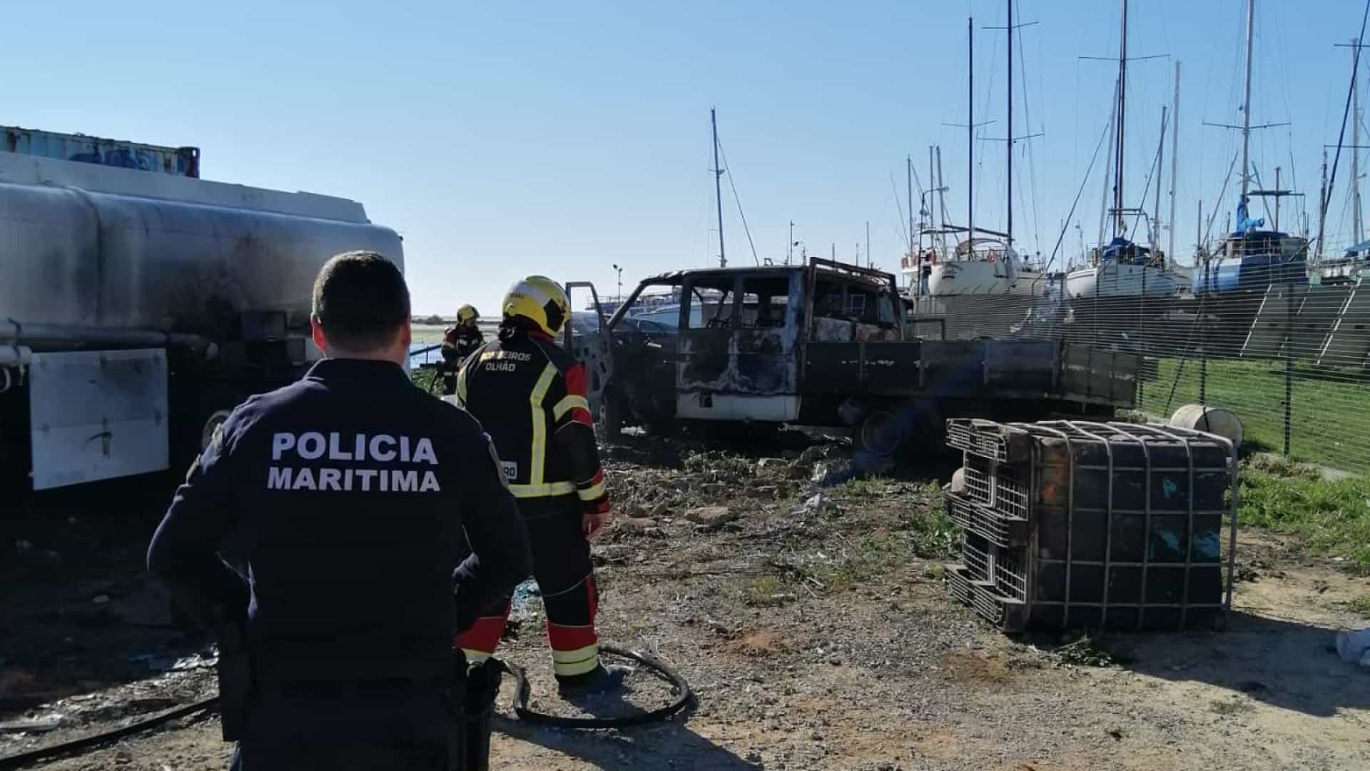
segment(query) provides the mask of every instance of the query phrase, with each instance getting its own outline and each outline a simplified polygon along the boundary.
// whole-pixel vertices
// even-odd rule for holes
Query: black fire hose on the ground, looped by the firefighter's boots
[[[555,726],[560,728],[626,728],[630,726],[641,726],[644,723],[653,723],[658,720],[664,720],[671,715],[675,715],[684,709],[688,704],[695,700],[695,691],[689,687],[678,672],[666,665],[662,660],[656,659],[649,653],[643,653],[638,650],[625,650],[612,645],[601,645],[600,650],[612,656],[621,656],[623,659],[630,659],[637,661],[648,672],[651,672],[658,679],[666,682],[671,686],[673,700],[666,707],[658,709],[651,709],[647,712],[637,712],[633,715],[625,715],[622,717],[560,717],[556,715],[544,715],[541,712],[534,712],[529,709],[527,700],[532,689],[527,683],[527,675],[516,664],[503,663],[504,671],[514,676],[514,713],[518,715],[519,720],[527,723],[537,723],[543,726]],[[103,731],[99,734],[92,734],[88,737],[81,737],[77,739],[59,742],[48,746],[40,746],[37,749],[30,749],[27,752],[19,752],[15,755],[7,755],[0,757],[0,771],[11,771],[15,768],[23,768],[30,763],[38,763],[40,760],[48,760],[59,755],[78,755],[92,749],[101,748],[110,742],[122,739],[125,737],[140,734],[142,731],[155,728],[163,723],[169,723],[178,717],[185,717],[188,715],[195,715],[196,712],[204,712],[214,709],[219,705],[219,697],[211,696],[200,701],[195,701],[141,720],[129,723],[119,728],[110,731]]]

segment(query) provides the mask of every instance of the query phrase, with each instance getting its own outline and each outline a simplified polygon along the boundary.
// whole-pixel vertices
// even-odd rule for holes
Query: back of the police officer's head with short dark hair
[[[400,269],[379,254],[342,252],[325,262],[314,280],[314,317],[333,347],[379,350],[410,321],[410,288]]]

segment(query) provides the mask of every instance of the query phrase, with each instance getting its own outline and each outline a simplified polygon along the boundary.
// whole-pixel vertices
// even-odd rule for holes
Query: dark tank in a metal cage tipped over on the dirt
[[[948,442],[966,450],[964,490],[948,491],[947,506],[967,530],[949,591],[988,595],[971,605],[996,604],[981,610],[995,623],[1178,628],[1211,624],[1230,604],[1230,442],[1122,423],[969,420],[949,421]]]

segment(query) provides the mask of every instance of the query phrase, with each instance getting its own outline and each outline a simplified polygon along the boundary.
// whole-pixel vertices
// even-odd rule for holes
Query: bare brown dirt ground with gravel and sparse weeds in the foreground
[[[955,535],[930,512],[949,468],[815,498],[792,479],[800,449],[610,450],[601,638],[671,663],[697,705],[651,727],[541,728],[511,717],[506,680],[493,768],[1370,768],[1370,671],[1333,650],[1336,630],[1367,624],[1348,605],[1370,595],[1366,578],[1241,531],[1226,630],[1110,634],[1103,665],[1085,664],[1054,650],[1078,632],[1008,638],[947,601]],[[4,525],[0,757],[214,693],[212,650],[138,568],[164,493],[147,487],[105,494],[118,506],[100,513],[44,499]],[[547,694],[540,613],[519,605],[501,656]],[[647,675],[630,682],[632,704],[664,701]],[[218,731],[199,715],[41,767],[222,768]]]

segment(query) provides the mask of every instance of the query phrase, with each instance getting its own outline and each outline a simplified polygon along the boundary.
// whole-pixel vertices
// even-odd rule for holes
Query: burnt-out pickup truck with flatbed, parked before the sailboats
[[[611,318],[567,336],[593,373],[592,406],[611,435],[748,421],[848,425],[860,442],[910,403],[936,425],[1110,414],[1136,399],[1134,354],[914,333],[925,327],[908,317],[892,274],[811,259],[653,276]]]

